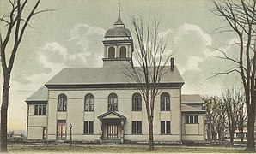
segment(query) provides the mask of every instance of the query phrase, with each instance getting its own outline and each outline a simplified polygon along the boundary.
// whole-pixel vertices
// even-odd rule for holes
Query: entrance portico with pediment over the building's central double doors
[[[101,121],[100,142],[102,140],[124,142],[124,125],[126,120],[124,115],[120,115],[116,111],[108,111],[107,113],[98,116],[98,118]]]

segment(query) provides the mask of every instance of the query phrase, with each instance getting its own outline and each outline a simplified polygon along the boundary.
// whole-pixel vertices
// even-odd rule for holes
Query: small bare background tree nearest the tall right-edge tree
[[[225,90],[222,92],[223,108],[227,115],[227,125],[229,128],[230,144],[234,145],[235,129],[239,126],[240,121],[240,107],[243,104],[243,94],[235,88]]]

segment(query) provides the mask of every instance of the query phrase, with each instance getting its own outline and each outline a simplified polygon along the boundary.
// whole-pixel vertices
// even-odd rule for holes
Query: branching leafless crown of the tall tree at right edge
[[[223,17],[228,22],[227,26],[218,27],[217,31],[222,32],[235,32],[239,37],[239,42],[235,44],[240,46],[240,53],[238,58],[229,57],[225,51],[222,52],[222,59],[235,62],[239,67],[230,68],[226,72],[221,74],[229,74],[231,72],[238,72],[245,78],[252,76],[255,72],[255,31],[256,31],[256,12],[255,12],[255,1],[241,0],[232,1],[225,0],[220,2],[213,1],[215,9],[212,12],[220,17]],[[253,61],[254,60],[254,61]],[[242,62],[242,63],[241,63]],[[241,68],[241,69],[240,69]],[[249,68],[249,69],[248,69]],[[255,74],[255,73],[254,73]]]

